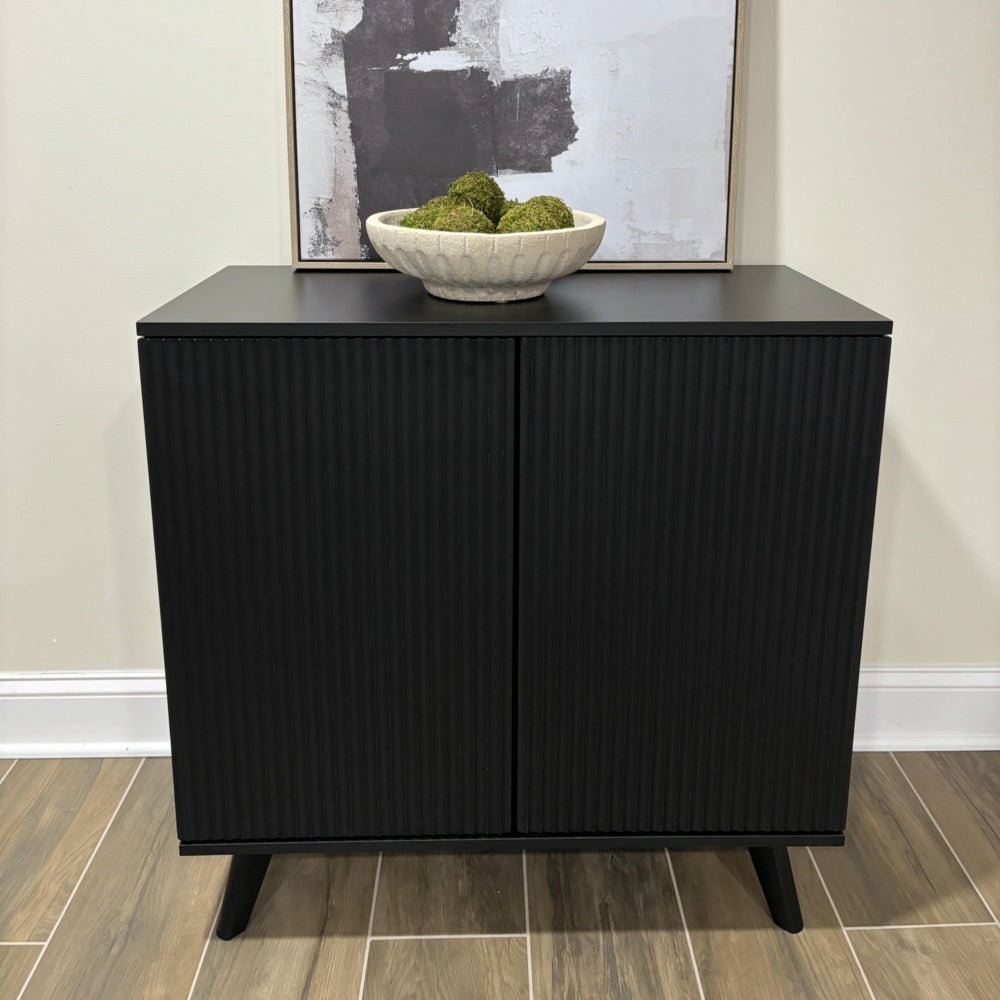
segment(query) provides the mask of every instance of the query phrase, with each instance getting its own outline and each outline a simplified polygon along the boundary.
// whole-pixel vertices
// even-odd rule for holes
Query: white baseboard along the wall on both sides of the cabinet
[[[1000,749],[1000,665],[863,668],[854,747]],[[159,671],[0,673],[0,757],[169,753]]]

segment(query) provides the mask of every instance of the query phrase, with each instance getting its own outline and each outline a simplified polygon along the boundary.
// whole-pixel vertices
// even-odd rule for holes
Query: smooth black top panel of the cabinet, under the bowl
[[[892,322],[787,267],[578,271],[541,298],[445,302],[395,271],[227,267],[139,320],[143,337],[856,334]]]

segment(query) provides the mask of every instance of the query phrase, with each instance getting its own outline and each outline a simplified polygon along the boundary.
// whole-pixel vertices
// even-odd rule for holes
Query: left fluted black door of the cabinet
[[[139,349],[181,840],[508,832],[513,342]]]

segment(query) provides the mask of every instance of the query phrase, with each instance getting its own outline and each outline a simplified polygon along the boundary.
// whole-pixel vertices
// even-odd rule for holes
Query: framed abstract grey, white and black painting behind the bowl
[[[290,0],[299,262],[470,170],[607,219],[595,261],[724,266],[739,0]]]

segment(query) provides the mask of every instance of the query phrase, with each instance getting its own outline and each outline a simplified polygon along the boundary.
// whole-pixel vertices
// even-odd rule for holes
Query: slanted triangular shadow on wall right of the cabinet
[[[998,647],[1000,589],[887,421],[862,662],[986,663]]]

